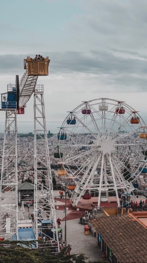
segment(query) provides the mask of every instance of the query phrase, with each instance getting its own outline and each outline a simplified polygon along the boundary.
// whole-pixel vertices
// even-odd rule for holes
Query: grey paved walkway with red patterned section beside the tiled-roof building
[[[56,196],[55,208],[56,208],[56,219],[59,217],[62,219],[60,227],[63,229],[62,242],[65,239],[65,199],[60,199],[59,191],[54,193]],[[19,213],[20,213],[19,206]],[[30,206],[29,213],[32,213],[34,206]],[[24,206],[24,219],[29,219],[28,208]],[[71,254],[84,254],[87,257],[86,262],[101,261],[102,251],[96,243],[96,238],[93,237],[91,232],[89,235],[84,234],[84,226],[79,224],[80,215],[84,214],[84,211],[74,210],[70,206],[70,199],[67,196],[67,210],[66,210],[66,240],[67,245],[71,245]],[[99,212],[97,212],[99,214]],[[45,218],[44,211],[41,211],[41,216]]]

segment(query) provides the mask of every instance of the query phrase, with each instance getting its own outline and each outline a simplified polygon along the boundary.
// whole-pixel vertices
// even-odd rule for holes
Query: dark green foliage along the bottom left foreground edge
[[[50,249],[37,249],[32,248],[35,241],[9,241],[5,240],[0,242],[0,263],[84,263],[86,257],[80,255],[65,255],[66,249],[64,248],[57,255],[53,255]],[[25,247],[24,247],[25,245]]]

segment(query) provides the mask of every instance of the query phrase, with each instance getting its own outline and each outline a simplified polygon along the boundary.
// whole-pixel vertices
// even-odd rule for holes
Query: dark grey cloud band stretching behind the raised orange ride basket
[[[111,51],[92,50],[82,52],[44,52],[50,54],[50,74],[86,73],[93,74],[97,80],[121,90],[126,86],[129,91],[134,87],[136,91],[146,89],[147,60],[138,58],[124,58],[114,55]],[[34,57],[34,55],[30,56]],[[24,55],[0,56],[0,70],[2,72],[23,72]],[[107,75],[107,78],[106,78]],[[91,80],[92,82],[92,80]],[[118,86],[118,87],[117,87]]]

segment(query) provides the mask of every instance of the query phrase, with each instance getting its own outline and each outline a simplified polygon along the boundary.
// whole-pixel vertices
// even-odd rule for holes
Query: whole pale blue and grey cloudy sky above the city
[[[83,100],[126,101],[147,122],[146,0],[1,0],[0,93],[24,73],[23,58],[49,56],[44,84],[47,129],[57,132]],[[0,112],[0,132],[5,113]],[[33,99],[18,116],[33,132]]]

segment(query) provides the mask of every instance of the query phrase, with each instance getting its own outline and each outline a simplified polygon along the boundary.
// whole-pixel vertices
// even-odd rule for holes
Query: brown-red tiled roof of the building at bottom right
[[[147,262],[147,229],[129,214],[90,220],[121,263]]]

